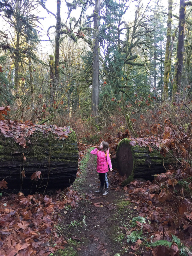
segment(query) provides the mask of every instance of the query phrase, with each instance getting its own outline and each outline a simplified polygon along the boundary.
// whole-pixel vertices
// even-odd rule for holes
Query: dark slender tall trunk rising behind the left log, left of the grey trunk
[[[55,83],[54,92],[56,93],[57,85],[59,83],[59,47],[60,47],[60,30],[61,30],[61,15],[60,15],[61,1],[57,0],[57,22],[56,22],[56,34],[55,34]]]

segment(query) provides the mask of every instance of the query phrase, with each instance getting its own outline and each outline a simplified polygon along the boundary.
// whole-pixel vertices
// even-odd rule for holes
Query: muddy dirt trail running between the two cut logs
[[[82,182],[80,186],[76,185],[78,193],[85,199],[78,202],[78,208],[68,210],[63,216],[62,234],[68,244],[64,254],[56,255],[130,255],[124,237],[126,232],[120,227],[128,228],[137,212],[124,200],[126,193],[123,190],[115,191],[117,185],[109,186],[110,193],[106,197],[94,193],[100,185],[94,159],[95,156],[90,155]]]

